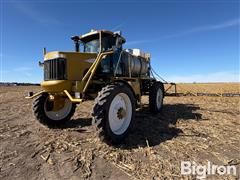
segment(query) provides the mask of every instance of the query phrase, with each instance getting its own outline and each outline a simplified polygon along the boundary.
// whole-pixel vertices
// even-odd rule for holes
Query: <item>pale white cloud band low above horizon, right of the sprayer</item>
[[[174,75],[166,78],[169,82],[240,82],[239,72],[215,72],[193,74],[188,76]]]

